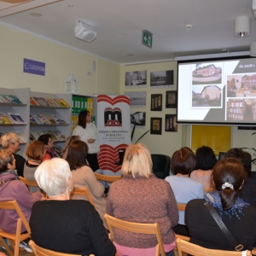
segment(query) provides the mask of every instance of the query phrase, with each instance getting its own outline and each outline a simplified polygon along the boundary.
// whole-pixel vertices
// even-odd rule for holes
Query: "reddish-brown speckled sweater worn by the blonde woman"
[[[123,177],[112,183],[108,192],[107,212],[113,217],[138,223],[158,223],[164,244],[175,240],[172,230],[177,225],[177,202],[166,181],[155,177]],[[115,230],[114,241],[134,248],[154,247],[154,235],[132,234]]]

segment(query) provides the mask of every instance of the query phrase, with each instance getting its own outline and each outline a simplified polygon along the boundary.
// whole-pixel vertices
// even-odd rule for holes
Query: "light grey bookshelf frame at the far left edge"
[[[18,113],[20,117],[24,120],[24,124],[1,124],[0,131],[2,133],[7,133],[9,131],[17,132],[20,137],[24,140],[24,143],[20,143],[20,151],[17,154],[26,157],[25,150],[27,143],[29,141],[29,88],[22,89],[8,89],[0,88],[0,93],[5,95],[17,96],[20,102],[23,104],[15,103],[4,103],[0,102],[1,112],[8,113]],[[1,145],[1,144],[0,144]],[[2,145],[1,145],[2,148]]]

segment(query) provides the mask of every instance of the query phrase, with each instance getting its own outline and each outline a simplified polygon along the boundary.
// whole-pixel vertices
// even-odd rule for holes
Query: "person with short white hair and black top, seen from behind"
[[[53,158],[38,166],[35,177],[49,196],[32,207],[32,240],[61,253],[113,256],[116,252],[98,212],[85,200],[69,200],[72,172],[66,160]]]

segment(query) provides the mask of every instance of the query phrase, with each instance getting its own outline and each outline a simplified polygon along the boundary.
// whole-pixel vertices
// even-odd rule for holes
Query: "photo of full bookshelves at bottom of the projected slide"
[[[230,99],[229,102],[227,102],[227,119],[242,120],[244,113],[243,107],[242,99]]]

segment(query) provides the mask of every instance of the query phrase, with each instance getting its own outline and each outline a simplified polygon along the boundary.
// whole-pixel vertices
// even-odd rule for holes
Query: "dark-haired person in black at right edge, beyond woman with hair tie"
[[[256,207],[256,172],[252,171],[252,156],[241,148],[231,148],[226,154],[225,158],[236,158],[241,161],[246,173],[247,179],[245,180],[239,196],[244,201]]]

